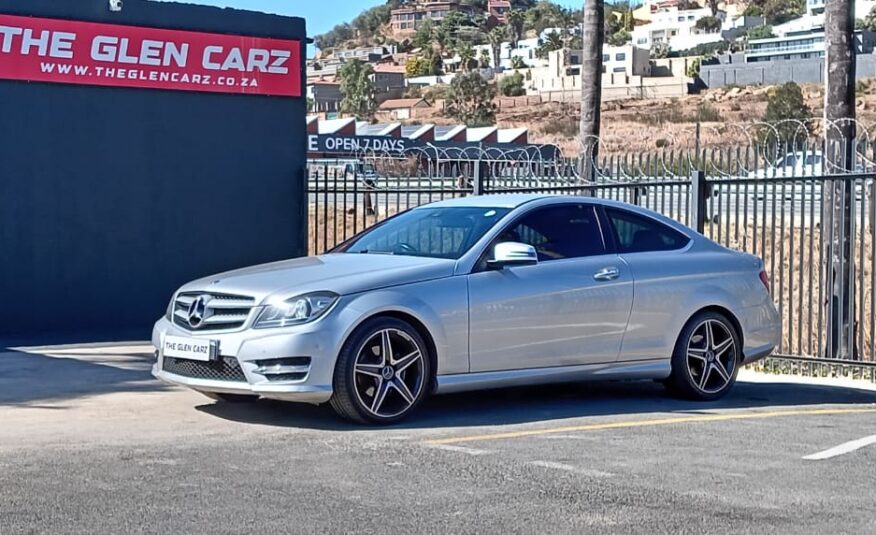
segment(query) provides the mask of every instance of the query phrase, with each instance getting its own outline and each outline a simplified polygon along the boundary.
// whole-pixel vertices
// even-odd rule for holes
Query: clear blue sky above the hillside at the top
[[[307,33],[312,37],[335,24],[349,22],[369,7],[385,0],[177,0],[189,4],[205,4],[220,7],[235,7],[252,11],[264,11],[278,15],[294,15],[307,20]],[[555,0],[566,7],[581,7],[581,0]]]

